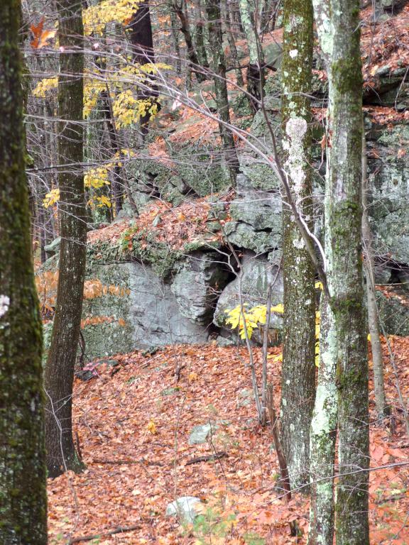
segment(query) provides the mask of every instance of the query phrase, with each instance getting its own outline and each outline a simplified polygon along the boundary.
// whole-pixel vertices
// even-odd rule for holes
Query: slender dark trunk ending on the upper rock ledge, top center
[[[222,123],[219,123],[220,136],[224,148],[224,160],[229,169],[231,185],[236,185],[236,174],[239,172],[239,159],[234,145],[233,133],[229,130],[229,97],[227,94],[226,62],[223,52],[222,21],[220,19],[220,0],[205,0],[209,28],[209,42],[212,53],[212,70],[214,72],[214,89],[217,111]]]

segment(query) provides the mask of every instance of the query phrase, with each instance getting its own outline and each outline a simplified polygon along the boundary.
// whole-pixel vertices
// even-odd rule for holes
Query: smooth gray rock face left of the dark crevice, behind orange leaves
[[[148,265],[89,264],[82,334],[89,359],[172,343],[205,343],[228,272],[219,254],[194,252],[165,281]]]

